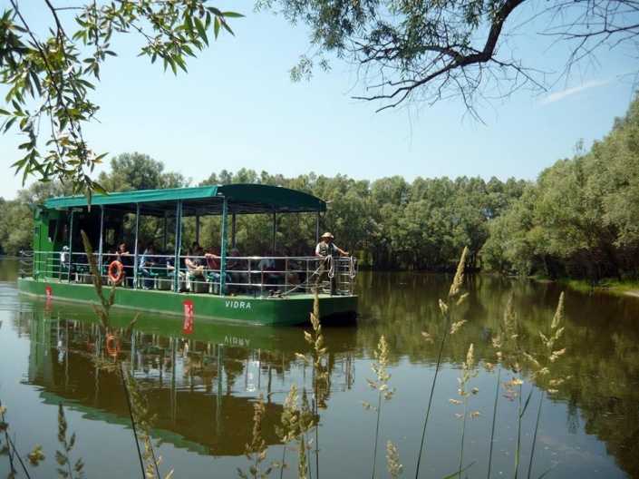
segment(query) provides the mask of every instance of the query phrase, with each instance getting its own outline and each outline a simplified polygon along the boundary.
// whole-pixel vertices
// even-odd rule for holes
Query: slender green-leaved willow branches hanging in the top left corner
[[[29,8],[34,9],[33,2]],[[137,34],[140,55],[158,60],[173,73],[187,71],[187,59],[227,30],[228,18],[238,15],[209,6],[207,0],[157,2],[87,2],[54,6],[44,1],[49,28],[36,31],[19,0],[0,16],[0,82],[8,88],[2,132],[24,135],[24,153],[13,167],[23,181],[34,175],[48,181],[69,181],[73,192],[102,191],[92,171],[105,153],[93,152],[82,131],[99,105],[92,103],[94,83],[105,60],[116,53],[111,40],[117,34]],[[41,128],[47,132],[41,134]],[[47,136],[45,140],[41,136]]]

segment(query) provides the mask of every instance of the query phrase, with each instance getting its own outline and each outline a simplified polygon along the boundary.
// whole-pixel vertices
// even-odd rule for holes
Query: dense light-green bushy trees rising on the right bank
[[[635,278],[639,252],[639,100],[589,152],[557,161],[498,219],[482,258],[550,279]]]

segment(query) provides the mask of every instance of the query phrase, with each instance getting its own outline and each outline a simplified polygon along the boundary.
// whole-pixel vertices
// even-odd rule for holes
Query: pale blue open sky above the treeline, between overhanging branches
[[[38,12],[27,12],[33,18],[44,5],[23,4],[39,5]],[[137,57],[131,36],[114,43],[120,56],[102,67],[92,98],[102,107],[99,122],[84,127],[93,149],[110,153],[103,170],[112,156],[140,152],[192,184],[240,168],[369,181],[394,175],[410,182],[464,175],[535,180],[555,161],[572,158],[579,140],[586,148],[602,140],[634,97],[629,73],[637,70],[636,56],[602,51],[596,67],[586,65],[552,91],[524,88],[503,102],[481,103],[484,123],[470,118],[459,100],[375,112],[379,103],[353,100],[362,85],[339,61],[310,82],[290,81],[288,70],[307,52],[304,25],[254,14],[246,1],[232,9],[247,15],[232,21],[236,35],[211,42],[190,60],[189,74],[176,77]],[[538,37],[517,32],[527,64],[564,67],[560,46],[548,49]],[[15,134],[0,137],[0,196],[6,200],[22,188],[10,169],[19,158],[17,144]]]

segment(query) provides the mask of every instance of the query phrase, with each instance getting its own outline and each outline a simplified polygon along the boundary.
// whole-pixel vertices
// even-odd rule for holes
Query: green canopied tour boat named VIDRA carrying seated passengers
[[[303,191],[264,184],[228,184],[154,191],[52,198],[34,205],[34,250],[24,251],[18,290],[46,301],[98,301],[94,281],[115,288],[114,308],[152,311],[242,324],[307,324],[315,298],[323,325],[353,325],[357,260],[331,254],[287,256],[276,245],[283,214],[315,214],[316,240],[326,202]],[[236,221],[241,215],[272,218],[273,257],[238,256]],[[218,216],[219,248],[182,250],[184,221]],[[164,248],[140,241],[140,220],[164,225]],[[131,223],[134,221],[134,223]],[[133,226],[131,226],[131,224]],[[90,272],[83,231],[101,277]],[[135,238],[132,238],[134,234]],[[324,236],[328,234],[325,233]],[[121,250],[125,236],[135,241]],[[170,246],[171,239],[175,246]],[[344,251],[340,251],[344,252]]]

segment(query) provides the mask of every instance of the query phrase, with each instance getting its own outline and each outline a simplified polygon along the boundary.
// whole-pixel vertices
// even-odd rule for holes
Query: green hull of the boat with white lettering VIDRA
[[[73,301],[89,304],[100,299],[89,284],[57,280],[18,279],[20,293],[46,298],[47,301]],[[104,287],[105,295],[111,287]],[[314,308],[314,294],[260,297],[255,295],[218,296],[208,293],[115,288],[113,308],[150,311],[180,318],[212,318],[244,324],[294,326],[308,324]],[[320,317],[325,326],[352,326],[357,317],[358,298],[354,295],[318,296]]]

